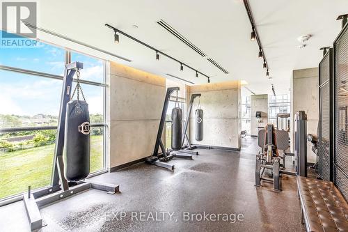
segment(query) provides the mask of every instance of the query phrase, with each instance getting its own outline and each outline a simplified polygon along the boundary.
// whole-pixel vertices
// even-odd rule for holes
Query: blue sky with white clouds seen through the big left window
[[[72,53],[72,61],[84,63],[81,79],[103,82],[103,61],[76,52]],[[64,50],[42,42],[37,47],[1,47],[0,65],[63,76]],[[57,79],[0,70],[0,114],[58,116],[62,84]],[[102,114],[103,88],[86,84],[81,87],[90,114]]]

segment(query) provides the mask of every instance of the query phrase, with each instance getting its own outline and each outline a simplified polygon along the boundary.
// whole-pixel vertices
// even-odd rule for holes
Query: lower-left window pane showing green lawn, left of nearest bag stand
[[[49,185],[56,130],[0,134],[0,199]]]

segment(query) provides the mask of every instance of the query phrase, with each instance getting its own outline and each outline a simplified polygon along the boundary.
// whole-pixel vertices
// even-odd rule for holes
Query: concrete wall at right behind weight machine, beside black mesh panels
[[[294,70],[292,73],[292,150],[294,141],[294,114],[299,110],[306,111],[307,133],[317,134],[319,121],[319,71],[318,68]],[[307,143],[308,162],[315,162],[316,155],[311,150],[312,145]]]

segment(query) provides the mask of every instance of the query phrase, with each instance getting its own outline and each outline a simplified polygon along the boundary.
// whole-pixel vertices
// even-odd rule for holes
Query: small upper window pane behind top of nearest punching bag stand
[[[81,70],[81,79],[104,83],[104,62],[102,60],[79,54],[77,52],[72,52],[71,61],[84,63],[84,68]]]

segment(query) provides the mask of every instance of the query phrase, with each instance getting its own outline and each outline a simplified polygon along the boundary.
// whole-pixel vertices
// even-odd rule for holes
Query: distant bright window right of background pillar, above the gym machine
[[[278,114],[290,113],[290,95],[269,95],[268,122],[277,125]]]

